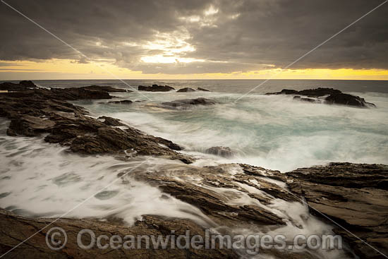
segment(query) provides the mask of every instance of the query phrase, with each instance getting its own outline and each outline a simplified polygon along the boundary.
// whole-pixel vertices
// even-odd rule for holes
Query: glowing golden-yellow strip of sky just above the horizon
[[[109,73],[109,72],[110,73]],[[201,74],[146,74],[120,68],[112,62],[80,64],[69,59],[35,61],[0,61],[0,80],[22,79],[348,79],[388,80],[388,70],[382,69],[264,69],[260,71]],[[112,75],[113,74],[113,75]]]

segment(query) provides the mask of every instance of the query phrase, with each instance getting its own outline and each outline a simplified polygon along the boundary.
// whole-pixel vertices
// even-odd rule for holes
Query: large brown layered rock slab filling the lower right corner
[[[370,246],[388,253],[388,166],[330,163],[286,174],[293,193],[305,198],[310,212],[337,222]],[[319,211],[319,212],[317,212]],[[322,214],[321,214],[322,213]],[[348,231],[336,226],[360,258],[382,258]]]

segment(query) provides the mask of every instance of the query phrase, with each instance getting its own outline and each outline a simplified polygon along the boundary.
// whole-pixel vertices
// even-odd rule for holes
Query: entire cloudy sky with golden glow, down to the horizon
[[[0,80],[388,80],[388,4],[284,69],[382,0],[4,1]]]

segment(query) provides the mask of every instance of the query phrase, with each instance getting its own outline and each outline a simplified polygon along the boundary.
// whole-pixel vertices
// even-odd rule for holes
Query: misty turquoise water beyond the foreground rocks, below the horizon
[[[310,104],[296,102],[291,96],[260,93],[235,102],[241,93],[231,92],[129,92],[114,95],[118,100],[141,102],[77,103],[92,115],[119,118],[183,145],[185,152],[203,164],[243,162],[280,171],[327,162],[387,164],[388,94],[351,93],[375,103],[377,109]],[[219,104],[188,110],[160,106],[166,101],[197,97]],[[236,155],[224,159],[205,154],[207,148],[219,145],[231,147]]]

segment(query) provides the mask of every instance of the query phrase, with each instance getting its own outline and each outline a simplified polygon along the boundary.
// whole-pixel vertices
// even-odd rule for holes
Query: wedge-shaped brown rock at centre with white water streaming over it
[[[286,224],[281,217],[278,217],[269,209],[253,204],[232,204],[231,201],[250,193],[248,184],[257,181],[252,185],[257,191],[261,190],[261,184],[271,184],[259,176],[241,173],[232,176],[229,169],[239,168],[238,164],[224,164],[218,167],[174,167],[174,169],[162,169],[158,171],[133,171],[132,176],[136,179],[150,182],[153,185],[174,196],[178,200],[198,207],[205,215],[214,222],[227,227],[247,227],[249,224],[260,226],[284,226]],[[193,184],[186,181],[186,177],[195,177],[198,182]],[[238,178],[238,181],[236,181]],[[239,185],[244,183],[248,187]],[[236,191],[236,195],[225,192],[225,188]],[[279,186],[272,186],[272,193],[276,197],[276,190],[283,192]],[[257,197],[253,200],[270,200],[272,194],[265,192],[255,193]]]

